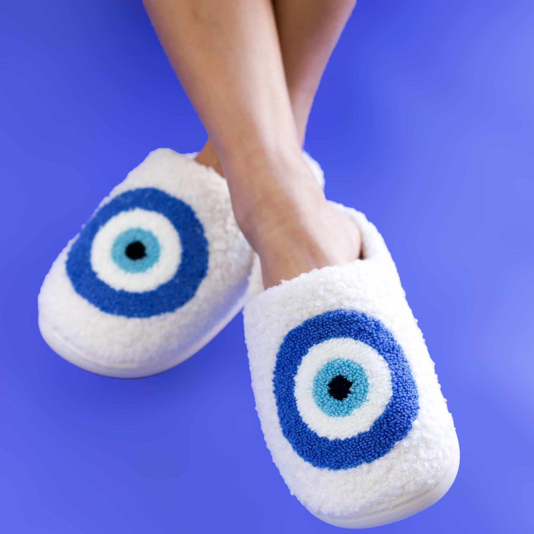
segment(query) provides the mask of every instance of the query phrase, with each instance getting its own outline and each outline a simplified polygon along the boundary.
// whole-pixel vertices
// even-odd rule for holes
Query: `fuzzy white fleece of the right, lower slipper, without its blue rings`
[[[314,270],[267,290],[262,290],[256,261],[244,309],[256,410],[266,444],[292,494],[313,514],[332,518],[359,517],[386,508],[391,503],[398,504],[403,501],[403,496],[409,499],[427,491],[445,475],[458,447],[434,363],[406,302],[395,264],[382,236],[362,213],[336,206],[354,219],[362,232],[365,259]],[[370,464],[329,470],[313,467],[304,461],[282,434],[273,392],[273,371],[277,352],[290,330],[307,319],[338,309],[356,310],[379,319],[395,336],[417,383],[420,407],[409,434],[390,452]],[[339,355],[340,350],[350,354],[348,345],[338,347],[335,342],[331,347],[327,343],[324,345],[320,347],[323,355],[311,356],[312,359],[319,358],[314,364],[317,368],[325,355],[328,359],[329,351],[330,358]],[[308,356],[316,347],[310,349]],[[360,362],[368,369],[374,365],[375,373],[384,373],[384,366],[381,368],[373,364],[372,350],[368,352],[365,357],[359,358]],[[305,369],[308,364],[304,360],[308,356],[303,358],[299,369],[302,377],[295,379],[295,396],[299,397],[297,405],[300,402],[303,420],[319,435],[329,438],[343,438],[350,435],[351,430],[357,433],[368,429],[371,419],[389,398],[387,372],[382,374],[381,382],[379,380],[384,384],[379,388],[381,391],[373,394],[375,406],[371,406],[360,421],[340,417],[329,418],[328,422],[328,418],[321,418],[318,410],[311,406],[312,396],[302,391],[304,379],[311,387],[310,378],[304,376],[312,373]],[[307,404],[304,409],[303,403]]]

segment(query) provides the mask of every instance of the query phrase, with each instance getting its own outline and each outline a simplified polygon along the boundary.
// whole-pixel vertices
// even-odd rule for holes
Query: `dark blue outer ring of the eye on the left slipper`
[[[182,245],[175,276],[144,293],[113,289],[91,268],[91,245],[100,227],[121,211],[134,208],[157,211],[167,217]],[[153,187],[133,189],[109,201],[89,220],[68,253],[66,269],[76,293],[100,310],[125,317],[152,317],[177,310],[197,292],[208,271],[208,241],[191,206]]]

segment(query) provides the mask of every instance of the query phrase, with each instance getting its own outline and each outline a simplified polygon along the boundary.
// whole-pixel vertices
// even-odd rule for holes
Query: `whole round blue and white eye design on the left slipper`
[[[66,262],[78,294],[125,317],[182,307],[207,269],[208,242],[193,209],[151,187],[122,193],[100,208]]]

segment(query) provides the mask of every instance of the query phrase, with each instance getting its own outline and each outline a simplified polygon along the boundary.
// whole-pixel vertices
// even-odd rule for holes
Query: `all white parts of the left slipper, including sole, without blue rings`
[[[95,213],[117,195],[143,187],[155,187],[189,204],[202,223],[209,250],[208,272],[194,297],[174,312],[148,318],[101,311],[76,293],[66,272],[68,252],[78,234],[53,263],[38,297],[41,332],[60,356],[88,371],[119,378],[160,373],[202,348],[241,309],[253,251],[235,222],[226,180],[193,156],[169,148],[151,152]],[[323,186],[318,163],[308,154],[304,158]],[[93,240],[91,266],[109,286],[142,292],[173,275],[180,244],[165,217],[136,211],[143,210],[122,212],[102,227]],[[166,257],[147,273],[130,275],[111,261],[107,251],[120,231],[140,220],[166,245],[162,252]]]

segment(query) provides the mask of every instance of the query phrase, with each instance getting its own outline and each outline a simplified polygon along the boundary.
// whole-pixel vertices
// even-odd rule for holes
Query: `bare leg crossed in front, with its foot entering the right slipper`
[[[359,233],[305,164],[269,0],[145,0],[205,125],[265,287],[359,255]]]

